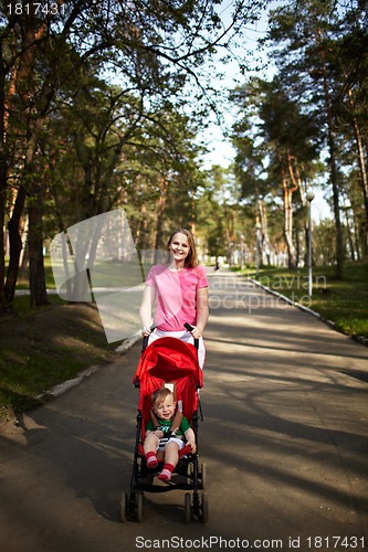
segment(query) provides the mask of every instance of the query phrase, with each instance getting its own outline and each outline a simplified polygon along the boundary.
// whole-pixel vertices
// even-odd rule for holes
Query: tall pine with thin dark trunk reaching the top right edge
[[[344,236],[340,221],[339,171],[340,141],[336,118],[336,91],[347,82],[347,75],[335,71],[338,65],[338,29],[340,13],[350,17],[361,8],[338,6],[334,2],[306,0],[296,7],[287,6],[274,10],[271,15],[270,40],[278,50],[273,51],[277,61],[280,78],[296,91],[307,113],[318,120],[323,145],[328,151],[329,182],[336,225],[336,274],[343,276]],[[362,26],[361,26],[362,28]]]

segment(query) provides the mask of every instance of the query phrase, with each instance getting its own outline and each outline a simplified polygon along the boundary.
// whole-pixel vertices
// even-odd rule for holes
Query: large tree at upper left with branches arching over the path
[[[29,13],[25,9],[17,10],[13,1],[1,2],[0,97],[6,137],[0,151],[1,229],[9,176],[17,181],[11,194],[14,201],[10,204],[10,262],[4,287],[3,258],[0,262],[2,308],[6,302],[11,304],[14,294],[21,251],[20,221],[27,198],[38,198],[30,202],[31,209],[35,209],[42,197],[32,188],[32,174],[38,168],[34,157],[59,93],[63,95],[66,83],[75,82],[84,67],[93,66],[96,76],[114,74],[124,89],[133,94],[139,91],[138,97],[145,98],[151,109],[162,106],[164,100],[175,100],[178,110],[185,109],[194,86],[197,102],[192,114],[204,117],[214,102],[201,67],[217,50],[228,49],[243,22],[254,19],[262,7],[262,2],[249,0],[234,2],[232,18],[225,25],[218,14],[218,3],[200,0],[179,6],[159,1],[153,7],[139,0],[60,0],[57,10],[46,13],[48,10],[39,10],[39,4],[33,3]],[[85,151],[80,146],[83,157]],[[9,151],[14,151],[21,162],[13,158],[8,164]],[[90,161],[83,162],[87,177]],[[38,227],[34,236],[39,238],[40,216],[41,211],[30,221],[32,224],[34,221]],[[0,255],[2,252],[1,247]],[[40,262],[39,255],[34,259]]]

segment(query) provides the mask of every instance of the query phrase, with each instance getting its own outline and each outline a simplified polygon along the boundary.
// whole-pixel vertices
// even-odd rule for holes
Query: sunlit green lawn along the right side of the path
[[[246,268],[245,276],[255,278],[255,269]],[[290,299],[309,307],[337,330],[357,338],[368,338],[368,264],[346,264],[344,279],[335,277],[335,268],[313,267],[312,298],[308,296],[306,268],[263,267],[259,282]]]

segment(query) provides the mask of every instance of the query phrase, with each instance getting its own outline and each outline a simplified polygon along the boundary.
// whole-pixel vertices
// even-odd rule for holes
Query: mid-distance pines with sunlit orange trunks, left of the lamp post
[[[294,203],[303,202],[302,184],[314,171],[318,155],[314,141],[315,125],[311,117],[301,113],[277,77],[271,82],[253,79],[236,91],[235,99],[242,115],[233,126],[235,173],[246,184],[243,192],[255,198],[256,222],[261,221],[266,251],[270,251],[270,241],[264,199],[270,193],[278,195],[281,189],[288,266],[294,267],[297,261],[293,242]],[[261,178],[262,173],[267,173],[267,178]],[[296,192],[298,195],[294,199]]]

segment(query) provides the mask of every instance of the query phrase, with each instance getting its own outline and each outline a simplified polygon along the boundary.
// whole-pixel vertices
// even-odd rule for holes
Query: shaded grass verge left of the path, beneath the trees
[[[32,308],[15,297],[15,315],[0,318],[0,426],[14,414],[44,404],[46,392],[82,370],[116,359],[94,304]]]

